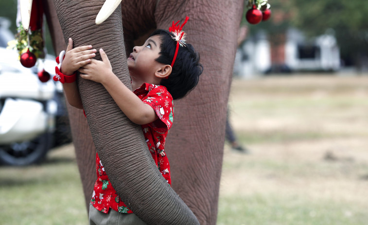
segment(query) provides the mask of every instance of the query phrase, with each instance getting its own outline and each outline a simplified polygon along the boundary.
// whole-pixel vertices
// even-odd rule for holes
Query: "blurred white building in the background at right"
[[[338,69],[340,51],[332,34],[308,41],[296,29],[272,36],[258,32],[248,37],[238,48],[234,64],[234,74],[243,78],[269,73]]]

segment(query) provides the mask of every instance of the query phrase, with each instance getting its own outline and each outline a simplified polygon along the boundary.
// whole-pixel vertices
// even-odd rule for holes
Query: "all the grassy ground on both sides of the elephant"
[[[218,225],[366,225],[368,76],[234,80]],[[1,225],[88,224],[71,145],[0,167]]]

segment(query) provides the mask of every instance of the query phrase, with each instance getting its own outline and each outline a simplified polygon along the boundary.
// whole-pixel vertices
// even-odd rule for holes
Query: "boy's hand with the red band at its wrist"
[[[65,75],[71,75],[79,68],[91,62],[97,52],[91,45],[81,46],[73,49],[73,40],[69,38],[65,58],[61,64],[61,72]]]

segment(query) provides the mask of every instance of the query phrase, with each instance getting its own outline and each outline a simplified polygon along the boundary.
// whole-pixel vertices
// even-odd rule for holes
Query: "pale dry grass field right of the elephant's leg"
[[[218,225],[365,225],[368,77],[235,80]]]

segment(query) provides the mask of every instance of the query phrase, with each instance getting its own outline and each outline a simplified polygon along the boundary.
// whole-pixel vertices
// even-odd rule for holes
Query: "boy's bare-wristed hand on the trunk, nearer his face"
[[[104,83],[110,76],[114,75],[110,61],[104,50],[100,49],[100,54],[102,61],[91,59],[90,63],[78,69],[83,79]]]

